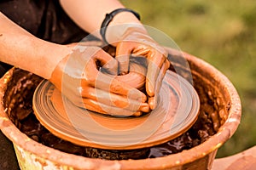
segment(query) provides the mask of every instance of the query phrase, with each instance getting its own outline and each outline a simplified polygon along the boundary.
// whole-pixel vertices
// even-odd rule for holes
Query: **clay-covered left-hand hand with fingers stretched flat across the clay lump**
[[[49,81],[74,105],[90,111],[113,116],[148,112],[146,95],[117,80],[117,71],[117,61],[102,48],[78,45],[56,65]]]

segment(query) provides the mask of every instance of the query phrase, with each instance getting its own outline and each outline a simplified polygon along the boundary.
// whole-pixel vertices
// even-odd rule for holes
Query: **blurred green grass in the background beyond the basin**
[[[230,156],[256,144],[256,2],[254,0],[121,0],[145,25],[223,72],[241,97],[241,124],[218,150]]]

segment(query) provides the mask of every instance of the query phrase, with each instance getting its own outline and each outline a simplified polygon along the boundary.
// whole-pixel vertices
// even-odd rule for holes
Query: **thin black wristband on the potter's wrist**
[[[101,26],[101,36],[102,36],[102,40],[106,43],[108,43],[107,39],[106,39],[106,31],[107,31],[107,27],[109,25],[109,23],[113,20],[113,17],[116,14],[119,14],[120,12],[130,12],[132,14],[134,14],[138,20],[140,20],[140,15],[137,14],[137,12],[129,9],[129,8],[117,8],[115,10],[113,10],[111,13],[106,14],[105,19],[102,21],[102,26]]]

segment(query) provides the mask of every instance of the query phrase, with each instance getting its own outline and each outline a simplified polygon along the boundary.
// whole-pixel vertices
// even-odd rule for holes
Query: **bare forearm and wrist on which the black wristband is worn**
[[[84,31],[93,32],[96,37],[100,37],[97,31],[100,30],[105,15],[114,9],[125,8],[118,0],[61,0],[61,5],[78,26]],[[141,25],[136,16],[130,12],[122,12],[114,16],[109,26],[120,24]]]

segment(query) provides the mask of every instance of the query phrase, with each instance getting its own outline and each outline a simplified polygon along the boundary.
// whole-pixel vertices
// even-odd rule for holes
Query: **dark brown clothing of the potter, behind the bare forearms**
[[[49,42],[79,42],[87,35],[57,0],[0,0],[0,11],[26,31]],[[11,65],[0,62],[0,77],[10,68]],[[19,169],[12,144],[1,132],[0,142],[0,169]]]

